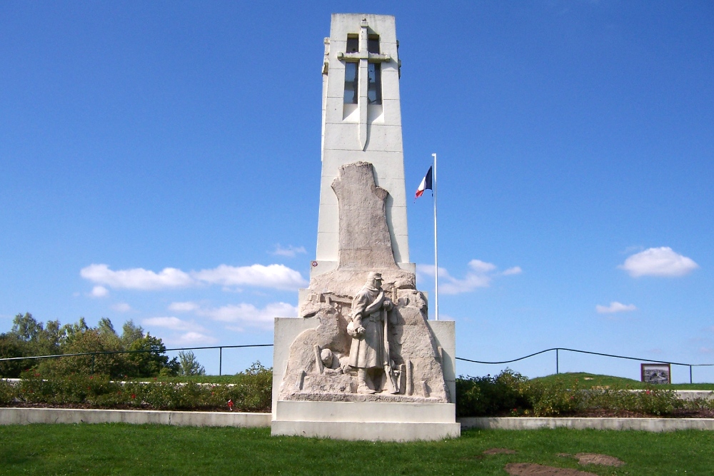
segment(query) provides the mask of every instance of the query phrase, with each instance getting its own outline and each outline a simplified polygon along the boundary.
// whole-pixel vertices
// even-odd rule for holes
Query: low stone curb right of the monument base
[[[714,430],[714,418],[464,417],[456,420],[461,423],[461,430],[470,428],[498,430],[573,428],[575,430],[640,430],[650,432]]]

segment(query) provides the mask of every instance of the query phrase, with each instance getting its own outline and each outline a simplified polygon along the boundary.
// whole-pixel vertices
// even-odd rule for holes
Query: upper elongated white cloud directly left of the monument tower
[[[201,270],[193,276],[206,283],[224,286],[253,285],[261,288],[296,290],[306,286],[302,275],[285,265],[220,265],[211,270]]]

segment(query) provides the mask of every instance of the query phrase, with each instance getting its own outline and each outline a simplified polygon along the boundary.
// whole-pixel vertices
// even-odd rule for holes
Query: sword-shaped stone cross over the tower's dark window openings
[[[353,77],[352,84],[357,83],[356,92],[357,94],[357,109],[359,111],[359,143],[362,146],[362,150],[367,146],[367,104],[368,102],[380,102],[381,103],[381,84],[380,84],[380,73],[381,69],[376,67],[370,68],[370,64],[374,66],[376,63],[382,63],[391,61],[388,54],[379,54],[379,40],[373,39],[370,41],[369,34],[367,31],[368,27],[367,19],[363,19],[360,22],[360,33],[358,38],[347,37],[347,51],[345,53],[338,53],[338,59],[345,61],[346,63],[352,63],[358,61],[359,67],[351,68],[356,71],[356,78]],[[352,40],[352,41],[350,41]],[[354,49],[354,44],[359,44],[358,51],[351,51]],[[346,68],[347,69],[347,68]],[[348,77],[345,75],[345,85],[347,88]],[[355,81],[356,80],[356,81]],[[370,98],[370,87],[373,86],[373,98]],[[346,95],[351,91],[346,91]]]

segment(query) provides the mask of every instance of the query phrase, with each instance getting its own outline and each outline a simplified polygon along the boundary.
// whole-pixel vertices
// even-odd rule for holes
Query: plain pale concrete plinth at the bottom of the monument
[[[453,403],[278,400],[271,434],[336,440],[443,440],[461,435]]]

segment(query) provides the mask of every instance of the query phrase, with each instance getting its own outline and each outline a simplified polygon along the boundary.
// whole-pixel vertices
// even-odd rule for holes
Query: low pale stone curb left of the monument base
[[[30,423],[131,423],[195,427],[269,427],[270,413],[174,412],[161,410],[85,410],[0,408],[0,425]]]

